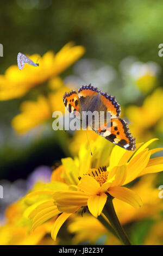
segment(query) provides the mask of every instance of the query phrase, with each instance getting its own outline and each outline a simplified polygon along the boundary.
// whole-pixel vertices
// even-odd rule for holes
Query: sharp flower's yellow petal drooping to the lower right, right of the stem
[[[109,194],[111,194],[112,197],[115,197],[117,199],[120,199],[135,208],[140,208],[142,205],[141,198],[132,190],[126,187],[110,187],[109,188]]]

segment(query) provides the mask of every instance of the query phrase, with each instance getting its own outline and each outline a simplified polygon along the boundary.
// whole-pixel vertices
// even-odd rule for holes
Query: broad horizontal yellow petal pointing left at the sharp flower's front
[[[57,205],[87,205],[87,199],[89,195],[80,191],[56,191],[53,194],[53,198]]]

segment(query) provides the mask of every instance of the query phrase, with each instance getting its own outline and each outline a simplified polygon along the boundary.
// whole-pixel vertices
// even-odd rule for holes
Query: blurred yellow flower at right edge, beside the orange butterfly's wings
[[[156,131],[163,130],[160,127],[163,120],[163,89],[157,88],[147,96],[141,107],[129,106],[126,109],[126,117],[130,120],[130,131],[137,141],[149,139],[153,136],[152,128]]]

